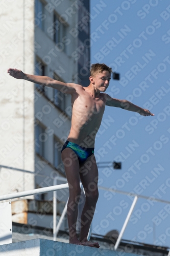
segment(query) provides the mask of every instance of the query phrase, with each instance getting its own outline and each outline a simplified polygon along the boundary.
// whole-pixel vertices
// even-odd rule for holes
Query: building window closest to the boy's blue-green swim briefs
[[[63,165],[62,159],[61,159],[62,147],[63,147],[63,145],[61,144],[59,139],[54,137],[54,166],[56,168],[60,168],[60,169],[61,169],[61,166]]]

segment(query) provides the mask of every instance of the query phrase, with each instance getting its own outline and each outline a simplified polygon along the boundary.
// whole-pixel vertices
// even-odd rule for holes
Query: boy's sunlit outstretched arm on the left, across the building
[[[79,86],[79,84],[75,84],[75,83],[60,82],[48,76],[29,75],[29,74],[23,73],[21,70],[18,70],[18,69],[8,69],[7,72],[9,73],[10,76],[16,79],[25,79],[30,82],[41,84],[42,86],[55,88],[67,94],[72,94],[76,92],[76,86]]]

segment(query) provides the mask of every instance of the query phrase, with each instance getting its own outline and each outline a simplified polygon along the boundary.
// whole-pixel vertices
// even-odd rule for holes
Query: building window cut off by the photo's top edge
[[[44,30],[44,4],[40,0],[35,0],[35,26]]]

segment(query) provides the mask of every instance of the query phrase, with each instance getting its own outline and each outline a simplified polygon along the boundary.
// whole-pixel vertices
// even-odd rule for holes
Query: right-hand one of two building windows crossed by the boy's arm
[[[59,76],[57,76],[55,73],[53,78],[57,81],[63,82],[63,80]],[[65,111],[66,95],[58,91],[57,89],[54,89],[53,95],[54,95],[54,104],[58,106],[58,108],[60,108],[62,111]]]

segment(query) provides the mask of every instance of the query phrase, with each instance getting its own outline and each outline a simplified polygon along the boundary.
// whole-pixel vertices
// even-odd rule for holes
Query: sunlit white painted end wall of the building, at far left
[[[25,22],[25,23],[24,23]],[[5,1],[0,15],[0,67],[1,67],[1,126],[0,163],[34,172],[34,84],[14,79],[8,68],[34,72],[34,0],[25,6],[23,1]],[[25,25],[25,29],[23,26]],[[25,41],[23,41],[23,35]],[[25,53],[23,56],[23,47]],[[23,63],[23,57],[25,64]],[[23,88],[25,87],[25,91]],[[24,96],[23,96],[24,94]],[[25,127],[23,133],[23,100],[25,103]],[[25,159],[23,160],[23,141]],[[27,178],[28,177],[28,178]],[[34,177],[9,169],[0,174],[0,194],[34,188]]]

